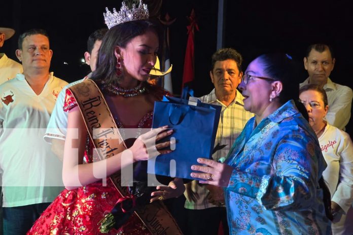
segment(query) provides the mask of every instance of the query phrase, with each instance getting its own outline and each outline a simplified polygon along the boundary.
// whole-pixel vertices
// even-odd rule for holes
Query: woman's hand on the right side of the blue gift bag
[[[191,170],[201,171],[192,172],[191,177],[201,179],[200,183],[212,184],[221,187],[227,187],[233,168],[227,164],[218,163],[210,159],[197,159],[197,162],[206,166],[192,165]]]

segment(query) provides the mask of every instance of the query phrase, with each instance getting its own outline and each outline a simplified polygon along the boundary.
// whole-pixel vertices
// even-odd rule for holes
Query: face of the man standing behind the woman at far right
[[[304,57],[304,67],[309,74],[309,82],[316,85],[327,83],[327,78],[330,76],[335,59],[332,59],[328,49],[323,52],[317,52],[311,49],[309,56]]]

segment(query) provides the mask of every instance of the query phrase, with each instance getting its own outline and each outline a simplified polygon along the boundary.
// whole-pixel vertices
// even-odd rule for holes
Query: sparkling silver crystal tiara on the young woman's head
[[[103,13],[104,20],[109,29],[117,24],[128,21],[148,20],[150,18],[147,4],[143,4],[142,0],[139,0],[138,8],[133,4],[132,8],[129,9],[125,2],[122,2],[119,12],[117,12],[115,8],[113,8],[113,13],[109,11],[108,8],[105,8],[105,11],[107,11],[107,13]]]

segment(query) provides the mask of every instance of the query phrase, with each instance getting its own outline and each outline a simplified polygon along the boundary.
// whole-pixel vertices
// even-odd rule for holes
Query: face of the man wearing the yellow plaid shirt
[[[223,94],[235,92],[241,82],[242,72],[239,72],[236,62],[232,59],[216,61],[214,69],[209,72],[216,91]]]

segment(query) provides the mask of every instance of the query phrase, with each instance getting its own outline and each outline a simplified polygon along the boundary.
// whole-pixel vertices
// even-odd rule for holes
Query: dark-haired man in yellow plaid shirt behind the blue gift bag
[[[244,97],[237,90],[243,75],[241,63],[241,55],[232,48],[220,49],[214,53],[209,75],[215,89],[199,98],[204,103],[222,106],[212,155],[215,161],[224,162],[234,140],[246,122],[254,116],[253,113],[245,111]],[[186,227],[189,229],[187,234],[216,235],[220,222],[224,234],[229,234],[223,189],[213,185],[201,185],[195,180],[188,183],[186,188]]]

